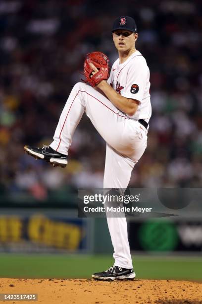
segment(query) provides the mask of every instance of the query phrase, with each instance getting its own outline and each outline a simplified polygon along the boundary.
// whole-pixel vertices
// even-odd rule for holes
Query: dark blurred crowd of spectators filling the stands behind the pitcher
[[[200,0],[1,0],[0,194],[41,200],[50,190],[102,187],[105,143],[86,115],[65,169],[35,161],[23,146],[51,143],[88,52],[105,53],[112,65],[120,15],[135,18],[136,47],[151,72],[148,147],[130,186],[201,187],[201,12]]]

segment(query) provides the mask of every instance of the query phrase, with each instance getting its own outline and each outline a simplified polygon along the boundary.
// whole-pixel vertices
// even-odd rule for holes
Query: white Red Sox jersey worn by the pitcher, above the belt
[[[144,119],[147,123],[152,115],[150,102],[150,70],[139,51],[133,53],[124,63],[119,58],[114,62],[107,82],[126,98],[140,101],[138,110],[129,118]]]

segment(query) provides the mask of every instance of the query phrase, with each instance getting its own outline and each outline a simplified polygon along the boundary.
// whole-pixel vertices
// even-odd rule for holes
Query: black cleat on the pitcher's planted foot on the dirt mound
[[[92,275],[95,280],[134,280],[135,272],[133,268],[126,269],[119,266],[113,266],[103,272],[97,272]]]

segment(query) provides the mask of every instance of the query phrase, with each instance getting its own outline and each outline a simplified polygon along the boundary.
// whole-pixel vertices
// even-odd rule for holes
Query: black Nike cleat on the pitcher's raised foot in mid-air
[[[25,146],[24,151],[36,159],[44,159],[50,162],[54,167],[64,168],[67,165],[67,155],[56,152],[50,146],[44,146],[43,148]]]

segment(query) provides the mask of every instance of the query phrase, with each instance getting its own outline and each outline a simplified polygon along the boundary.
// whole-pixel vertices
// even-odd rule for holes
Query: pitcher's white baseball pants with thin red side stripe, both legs
[[[103,187],[127,188],[132,169],[147,147],[147,131],[86,83],[74,85],[50,147],[68,154],[74,131],[84,112],[106,142]],[[126,218],[107,218],[107,224],[114,248],[114,265],[132,268]]]

